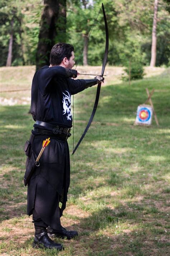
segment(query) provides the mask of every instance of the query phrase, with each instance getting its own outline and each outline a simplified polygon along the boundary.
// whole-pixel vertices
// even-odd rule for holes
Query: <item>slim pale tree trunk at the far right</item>
[[[155,64],[156,64],[157,7],[158,7],[158,0],[155,0],[155,4],[154,4],[154,21],[153,21],[153,27],[152,27],[152,48],[151,48],[151,62],[150,62],[150,67],[155,67]]]

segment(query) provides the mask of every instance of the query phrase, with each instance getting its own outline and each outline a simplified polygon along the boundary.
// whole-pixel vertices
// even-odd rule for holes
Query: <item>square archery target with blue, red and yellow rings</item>
[[[135,123],[151,125],[153,109],[150,105],[139,105]]]

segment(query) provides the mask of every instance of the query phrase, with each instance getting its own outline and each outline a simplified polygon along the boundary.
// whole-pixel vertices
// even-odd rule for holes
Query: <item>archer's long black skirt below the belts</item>
[[[46,139],[47,136],[34,136],[32,150],[37,156],[41,151],[43,140]],[[66,207],[70,185],[70,156],[67,141],[56,138],[50,140],[40,158],[40,166],[36,167],[28,183],[27,214],[32,215],[35,209],[40,218],[55,229],[58,195],[62,203],[60,216]]]

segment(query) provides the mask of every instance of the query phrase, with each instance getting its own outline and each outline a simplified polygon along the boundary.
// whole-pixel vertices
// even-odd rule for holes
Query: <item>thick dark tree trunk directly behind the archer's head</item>
[[[39,41],[36,54],[36,69],[49,65],[52,46],[66,38],[66,0],[44,0]]]

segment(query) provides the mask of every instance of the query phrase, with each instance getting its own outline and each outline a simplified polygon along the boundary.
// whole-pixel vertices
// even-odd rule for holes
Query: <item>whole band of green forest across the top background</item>
[[[154,0],[103,0],[109,28],[108,64],[127,66],[129,60],[148,66],[151,60]],[[170,65],[170,0],[159,0],[157,11],[156,66]],[[44,35],[41,30],[46,4],[59,6],[57,19],[50,20],[57,32]],[[101,65],[105,45],[103,14],[95,21],[101,1],[85,0],[2,0],[0,2],[0,66],[35,65],[41,67],[49,62],[49,50],[40,57],[38,42],[44,44],[68,42],[75,47],[79,64]],[[43,12],[43,14],[42,14]],[[53,24],[52,24],[53,23]],[[88,35],[91,28],[93,32]],[[46,32],[46,31],[45,31]],[[50,39],[50,36],[52,40]],[[88,42],[87,42],[88,41]],[[10,55],[10,56],[9,56]],[[11,61],[7,61],[10,58]],[[9,62],[9,63],[7,63]],[[38,63],[39,62],[39,63]],[[46,63],[45,63],[46,62]]]

